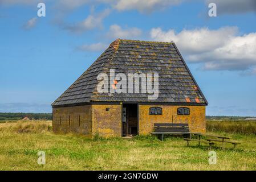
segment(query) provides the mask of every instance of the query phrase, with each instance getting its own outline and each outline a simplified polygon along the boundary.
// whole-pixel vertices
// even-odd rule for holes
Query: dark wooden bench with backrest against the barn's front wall
[[[191,138],[191,132],[189,126],[186,123],[155,123],[153,135],[161,135],[161,139],[164,140],[164,135],[189,135]]]

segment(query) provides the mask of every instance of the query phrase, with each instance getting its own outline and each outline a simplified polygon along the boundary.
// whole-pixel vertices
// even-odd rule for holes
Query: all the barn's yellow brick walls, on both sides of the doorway
[[[205,133],[205,106],[186,106],[190,115],[177,115],[182,106],[157,105],[162,115],[149,115],[152,105],[139,105],[139,134],[153,131],[154,123],[188,123],[190,131]],[[106,111],[109,108],[109,111]],[[76,133],[92,138],[121,137],[122,105],[86,105],[53,108],[53,130],[55,133]],[[61,117],[61,122],[60,122]],[[80,126],[79,126],[80,117]]]

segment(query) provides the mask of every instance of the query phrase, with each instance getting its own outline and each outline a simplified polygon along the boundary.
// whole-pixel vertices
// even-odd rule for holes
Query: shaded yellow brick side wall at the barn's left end
[[[55,133],[76,133],[92,137],[91,105],[53,108],[52,114],[52,128]]]

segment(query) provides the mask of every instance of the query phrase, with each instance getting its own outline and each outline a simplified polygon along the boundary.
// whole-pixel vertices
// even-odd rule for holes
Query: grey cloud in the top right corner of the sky
[[[217,14],[238,14],[256,12],[255,0],[205,0],[206,4],[216,3]]]

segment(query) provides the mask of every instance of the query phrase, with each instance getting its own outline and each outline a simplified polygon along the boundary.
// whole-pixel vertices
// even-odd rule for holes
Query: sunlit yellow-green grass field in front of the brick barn
[[[231,144],[214,147],[216,165],[208,163],[208,146],[186,147],[182,138],[86,139],[51,129],[46,121],[0,123],[0,170],[256,170],[256,135],[227,134],[220,127],[211,133],[242,144],[235,150]],[[45,165],[37,163],[38,151],[46,152]]]

